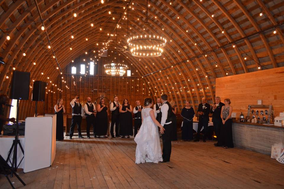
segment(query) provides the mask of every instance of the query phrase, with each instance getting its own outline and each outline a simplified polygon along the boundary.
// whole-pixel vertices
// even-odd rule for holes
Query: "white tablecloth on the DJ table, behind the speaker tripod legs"
[[[9,150],[10,150],[12,144],[13,144],[14,139],[15,139],[15,136],[3,136],[2,135],[2,137],[0,137],[0,154],[5,160],[8,157],[8,153],[9,153]],[[19,140],[20,140],[20,143],[21,143],[21,145],[24,149],[25,148],[25,136],[20,136]],[[19,145],[18,145],[17,149],[18,149],[18,151],[17,151],[17,164],[19,165],[19,162],[23,158],[23,153],[22,153],[22,150],[21,150]],[[13,152],[12,152],[12,154],[13,154]],[[11,162],[12,162],[12,158],[13,158],[13,155],[11,155],[11,158],[10,158]],[[8,164],[11,165],[9,162],[8,162]],[[21,168],[21,169],[24,168],[24,160],[22,160],[22,162],[20,163],[18,168]]]

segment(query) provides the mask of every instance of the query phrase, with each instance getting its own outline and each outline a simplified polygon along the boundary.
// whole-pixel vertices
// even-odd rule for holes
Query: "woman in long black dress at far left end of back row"
[[[63,113],[65,113],[65,108],[63,104],[63,99],[59,98],[57,104],[54,106],[56,114],[56,140],[61,141],[64,139],[64,129],[63,129]]]

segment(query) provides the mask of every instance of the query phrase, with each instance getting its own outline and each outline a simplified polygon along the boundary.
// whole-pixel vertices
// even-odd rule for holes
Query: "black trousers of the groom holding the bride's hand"
[[[172,152],[172,142],[171,142],[171,134],[172,134],[172,123],[164,124],[164,134],[162,134],[163,139],[163,160],[168,162],[170,161],[171,152]]]

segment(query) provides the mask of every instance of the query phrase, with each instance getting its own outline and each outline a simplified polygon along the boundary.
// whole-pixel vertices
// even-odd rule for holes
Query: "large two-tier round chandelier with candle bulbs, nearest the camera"
[[[159,36],[140,35],[128,38],[127,44],[130,52],[136,57],[158,57],[163,53],[167,40]]]

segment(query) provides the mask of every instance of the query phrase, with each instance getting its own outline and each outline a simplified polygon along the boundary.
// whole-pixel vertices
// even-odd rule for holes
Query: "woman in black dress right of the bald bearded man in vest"
[[[107,138],[107,126],[108,126],[108,119],[107,119],[107,106],[105,104],[104,99],[100,100],[100,103],[97,105],[97,114],[96,114],[96,134],[98,138],[104,136]]]

